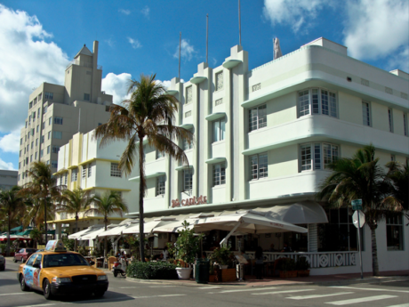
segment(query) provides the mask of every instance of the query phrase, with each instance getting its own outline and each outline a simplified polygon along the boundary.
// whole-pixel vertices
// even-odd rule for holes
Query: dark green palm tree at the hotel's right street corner
[[[362,199],[365,220],[371,230],[373,276],[379,275],[375,234],[378,222],[391,212],[402,210],[398,199],[390,195],[390,184],[378,162],[373,145],[358,149],[352,158],[336,160],[329,166],[333,174],[325,179],[317,193],[319,200],[325,199],[334,207]]]

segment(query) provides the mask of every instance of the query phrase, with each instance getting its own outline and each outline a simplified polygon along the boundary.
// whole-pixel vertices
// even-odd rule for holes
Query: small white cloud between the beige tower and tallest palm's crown
[[[121,104],[122,101],[130,97],[128,95],[128,87],[131,79],[131,74],[122,73],[116,75],[110,72],[102,79],[101,89],[114,96],[114,103]]]

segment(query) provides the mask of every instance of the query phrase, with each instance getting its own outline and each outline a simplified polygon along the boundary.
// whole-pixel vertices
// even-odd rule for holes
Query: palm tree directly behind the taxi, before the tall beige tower
[[[25,194],[34,200],[38,200],[44,208],[44,233],[45,245],[47,245],[47,209],[54,209],[53,200],[60,196],[60,187],[57,186],[57,180],[52,176],[50,165],[43,161],[33,162],[31,164],[28,175],[31,177],[31,182],[25,186]]]

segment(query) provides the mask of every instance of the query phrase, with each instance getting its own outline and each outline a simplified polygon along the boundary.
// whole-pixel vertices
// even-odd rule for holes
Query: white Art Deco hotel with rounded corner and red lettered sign
[[[270,211],[280,218],[277,208],[320,206],[314,201],[317,186],[330,174],[325,166],[334,158],[349,158],[370,143],[382,166],[409,158],[409,75],[357,61],[348,56],[347,47],[325,38],[251,70],[248,53],[237,45],[221,66],[212,69],[201,63],[186,83],[173,78],[168,93],[180,101],[176,124],[195,134],[196,145],[188,148],[180,142],[188,166],[146,145],[147,218],[243,209]],[[107,159],[116,160],[116,154]],[[101,180],[115,187],[108,166],[101,169],[106,169]],[[130,181],[138,183],[135,174]],[[135,185],[129,189],[137,189]],[[134,193],[137,199],[138,191]],[[341,208],[325,213],[317,214],[317,222],[282,216],[307,227],[308,235],[248,235],[245,249],[269,249],[273,243],[280,250],[289,242],[310,257],[312,274],[357,272],[352,212]],[[398,215],[379,223],[380,271],[409,269],[406,222]],[[207,243],[221,236],[221,231],[210,233],[212,242]],[[367,226],[362,241],[364,271],[372,271]],[[231,244],[237,248],[233,239]]]

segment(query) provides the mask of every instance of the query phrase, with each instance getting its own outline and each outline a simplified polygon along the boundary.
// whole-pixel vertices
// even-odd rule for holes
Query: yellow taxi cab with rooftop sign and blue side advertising
[[[100,297],[108,289],[108,277],[78,253],[68,252],[61,240],[49,241],[43,252],[32,254],[17,273],[22,291],[55,295],[92,294]]]

